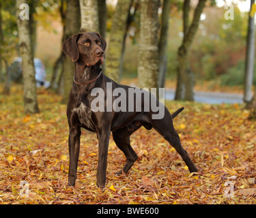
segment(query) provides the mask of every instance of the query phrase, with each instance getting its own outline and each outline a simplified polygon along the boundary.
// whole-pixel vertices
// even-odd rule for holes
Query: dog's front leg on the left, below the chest
[[[74,186],[76,182],[76,170],[79,162],[80,136],[81,136],[80,127],[70,127],[70,134],[68,136],[68,149],[70,152],[68,185],[72,185],[72,186]]]

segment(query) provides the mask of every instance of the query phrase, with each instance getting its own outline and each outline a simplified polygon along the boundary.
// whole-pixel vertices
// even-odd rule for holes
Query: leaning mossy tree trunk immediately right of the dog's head
[[[109,46],[106,52],[106,75],[116,82],[119,82],[120,79],[119,67],[126,33],[126,20],[131,2],[131,0],[119,0],[117,2],[111,25]]]

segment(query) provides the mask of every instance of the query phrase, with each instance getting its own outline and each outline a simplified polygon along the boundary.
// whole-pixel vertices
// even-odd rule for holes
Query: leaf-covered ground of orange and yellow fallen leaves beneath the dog
[[[78,178],[68,187],[66,106],[38,90],[40,114],[23,114],[22,87],[0,95],[0,204],[255,204],[256,121],[243,105],[166,102],[182,145],[199,172],[190,174],[180,155],[154,129],[131,136],[139,159],[126,161],[111,136],[107,181],[96,186],[98,140],[83,131]]]

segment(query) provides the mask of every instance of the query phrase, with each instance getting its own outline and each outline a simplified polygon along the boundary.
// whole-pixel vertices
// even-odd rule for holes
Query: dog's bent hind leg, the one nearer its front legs
[[[139,127],[137,127],[137,129],[139,129]],[[134,129],[134,131],[136,130]],[[115,144],[117,144],[118,148],[124,152],[124,155],[126,155],[126,164],[123,170],[119,170],[117,172],[119,175],[122,174],[122,171],[127,173],[132,167],[133,163],[138,159],[137,153],[135,153],[132,146],[130,146],[130,135],[132,135],[134,131],[128,131],[127,127],[113,131],[113,139]]]

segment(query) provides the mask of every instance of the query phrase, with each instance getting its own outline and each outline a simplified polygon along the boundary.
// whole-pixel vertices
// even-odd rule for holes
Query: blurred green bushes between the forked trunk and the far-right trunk
[[[190,52],[190,64],[197,77],[207,80],[236,69],[244,60],[247,19],[234,5],[234,20],[225,20],[226,10],[208,7],[204,10],[197,39]],[[240,71],[239,67],[237,71]],[[244,72],[244,71],[242,71]],[[224,78],[224,77],[223,77]]]

